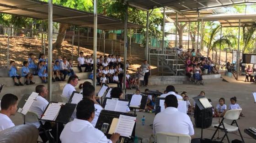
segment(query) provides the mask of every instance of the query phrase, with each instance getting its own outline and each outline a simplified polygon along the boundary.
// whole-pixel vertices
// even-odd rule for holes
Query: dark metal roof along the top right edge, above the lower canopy
[[[176,12],[203,10],[235,4],[256,3],[256,0],[125,0],[129,5],[151,10],[165,6]]]

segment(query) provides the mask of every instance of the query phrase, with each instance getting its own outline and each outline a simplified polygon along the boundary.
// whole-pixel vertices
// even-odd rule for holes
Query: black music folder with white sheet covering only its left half
[[[75,107],[76,104],[72,103],[50,102],[40,120],[66,124],[69,122]]]

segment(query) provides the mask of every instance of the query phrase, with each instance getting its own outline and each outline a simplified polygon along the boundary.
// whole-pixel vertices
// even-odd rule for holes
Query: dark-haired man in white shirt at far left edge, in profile
[[[0,105],[0,131],[14,127],[10,117],[17,111],[18,97],[13,94],[5,94],[1,99]]]

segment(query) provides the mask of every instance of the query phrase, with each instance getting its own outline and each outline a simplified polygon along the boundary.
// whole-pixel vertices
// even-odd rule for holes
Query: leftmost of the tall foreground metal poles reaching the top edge
[[[52,101],[53,0],[48,0],[48,101]]]

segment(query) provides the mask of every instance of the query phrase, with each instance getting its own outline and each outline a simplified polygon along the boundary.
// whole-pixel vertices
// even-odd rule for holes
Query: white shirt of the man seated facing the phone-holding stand
[[[59,138],[62,143],[112,143],[90,122],[80,119],[67,123]]]

